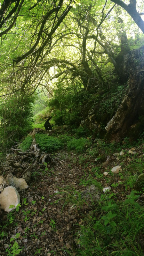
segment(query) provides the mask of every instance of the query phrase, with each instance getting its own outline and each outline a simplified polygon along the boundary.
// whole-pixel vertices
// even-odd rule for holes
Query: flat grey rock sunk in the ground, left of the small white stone
[[[98,201],[101,198],[101,192],[95,185],[88,186],[84,191],[81,192],[81,198],[85,200]]]

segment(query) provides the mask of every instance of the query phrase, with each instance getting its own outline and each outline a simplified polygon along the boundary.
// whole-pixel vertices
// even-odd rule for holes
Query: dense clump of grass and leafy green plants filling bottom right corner
[[[143,207],[135,202],[138,196],[133,191],[127,198],[124,203],[107,202],[91,212],[91,222],[79,225],[76,255],[143,255],[137,243],[139,234],[144,234]]]

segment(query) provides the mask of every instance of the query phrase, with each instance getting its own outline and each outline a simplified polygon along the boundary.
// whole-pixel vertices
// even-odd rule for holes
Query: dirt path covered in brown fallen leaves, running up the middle
[[[83,189],[79,182],[84,173],[74,153],[53,154],[53,159],[53,164],[47,166],[48,170],[33,170],[33,181],[24,195],[22,192],[26,203],[18,213],[14,213],[13,223],[9,224],[7,216],[3,216],[8,235],[1,240],[1,255],[7,255],[5,250],[10,238],[17,232],[20,236],[16,241],[20,248],[24,247],[19,255],[69,255],[67,250],[72,251],[72,232],[81,218],[75,205],[74,191]],[[58,202],[54,203],[56,200]],[[21,229],[15,231],[17,227]]]

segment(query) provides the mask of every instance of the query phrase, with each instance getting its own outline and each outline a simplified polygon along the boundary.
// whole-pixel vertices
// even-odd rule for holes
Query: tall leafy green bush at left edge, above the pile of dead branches
[[[21,97],[15,94],[8,97],[6,103],[0,106],[0,142],[3,141],[5,147],[18,142],[32,129],[33,101],[34,97]]]

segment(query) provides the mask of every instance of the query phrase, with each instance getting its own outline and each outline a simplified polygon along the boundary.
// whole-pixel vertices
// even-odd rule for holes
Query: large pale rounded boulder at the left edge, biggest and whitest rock
[[[20,203],[19,193],[13,186],[7,186],[0,194],[0,205],[3,210],[10,212],[10,205],[17,206]]]

